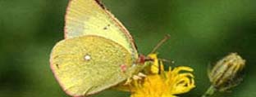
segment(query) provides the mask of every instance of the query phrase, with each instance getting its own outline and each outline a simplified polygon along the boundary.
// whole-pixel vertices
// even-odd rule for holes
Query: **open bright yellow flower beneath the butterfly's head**
[[[168,71],[164,71],[162,61],[158,64],[157,55],[151,54],[149,57],[154,60],[149,69],[151,72],[144,80],[130,82],[130,97],[176,97],[175,95],[188,92],[195,87],[194,76],[191,73],[184,73],[192,72],[192,68],[169,67]]]

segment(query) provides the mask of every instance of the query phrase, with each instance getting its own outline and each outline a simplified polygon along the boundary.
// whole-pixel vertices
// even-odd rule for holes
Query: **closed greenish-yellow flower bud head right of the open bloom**
[[[236,53],[227,55],[219,60],[208,73],[210,82],[220,91],[225,91],[237,86],[241,81],[241,72],[245,68],[245,60]]]

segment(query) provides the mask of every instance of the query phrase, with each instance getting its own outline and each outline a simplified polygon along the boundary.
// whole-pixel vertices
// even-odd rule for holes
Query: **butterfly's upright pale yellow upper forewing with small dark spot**
[[[137,59],[138,54],[130,33],[98,0],[71,0],[66,11],[65,37],[97,35],[121,46]]]

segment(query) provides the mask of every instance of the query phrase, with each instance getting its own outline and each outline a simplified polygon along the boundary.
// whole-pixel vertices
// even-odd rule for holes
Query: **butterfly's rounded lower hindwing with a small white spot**
[[[92,95],[125,81],[129,75],[121,65],[132,64],[123,46],[97,36],[58,42],[50,60],[57,81],[72,96]]]

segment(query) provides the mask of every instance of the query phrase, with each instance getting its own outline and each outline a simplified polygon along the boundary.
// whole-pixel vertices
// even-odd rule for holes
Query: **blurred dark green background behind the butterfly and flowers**
[[[173,66],[194,68],[196,88],[181,97],[199,97],[210,85],[208,64],[230,52],[246,60],[244,82],[219,97],[256,96],[255,0],[103,0],[146,55],[158,49]],[[49,68],[54,44],[63,39],[68,0],[0,0],[0,97],[68,97]],[[95,97],[128,97],[107,90]]]

